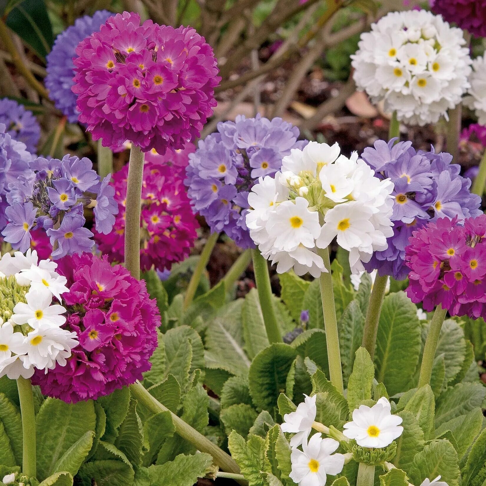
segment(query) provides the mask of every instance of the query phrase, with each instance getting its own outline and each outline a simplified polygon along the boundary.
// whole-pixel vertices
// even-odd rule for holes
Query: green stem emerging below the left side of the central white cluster
[[[258,298],[260,300],[261,313],[263,322],[267,331],[268,342],[281,343],[282,335],[278,326],[277,316],[273,305],[272,287],[270,285],[270,275],[268,273],[267,260],[265,260],[257,248],[252,250],[253,271],[257,283]]]

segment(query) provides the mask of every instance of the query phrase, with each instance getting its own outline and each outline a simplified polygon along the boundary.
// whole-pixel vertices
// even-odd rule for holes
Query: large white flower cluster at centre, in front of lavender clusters
[[[282,160],[280,172],[259,179],[248,195],[246,226],[277,272],[326,272],[317,248],[333,238],[349,251],[353,273],[393,234],[393,183],[381,181],[356,152],[340,155],[337,143],[310,142]]]

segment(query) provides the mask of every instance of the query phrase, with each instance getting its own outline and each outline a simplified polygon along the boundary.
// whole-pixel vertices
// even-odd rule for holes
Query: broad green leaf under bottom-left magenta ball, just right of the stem
[[[68,404],[48,398],[35,417],[37,437],[37,477],[47,478],[64,453],[88,431],[96,429],[92,401]]]

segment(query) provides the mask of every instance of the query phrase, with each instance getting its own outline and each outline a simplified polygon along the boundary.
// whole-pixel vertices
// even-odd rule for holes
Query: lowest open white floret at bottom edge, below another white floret
[[[312,435],[309,443],[302,443],[302,451],[292,449],[289,477],[300,486],[324,486],[328,474],[335,476],[343,470],[344,455],[333,453],[338,447],[337,440]]]

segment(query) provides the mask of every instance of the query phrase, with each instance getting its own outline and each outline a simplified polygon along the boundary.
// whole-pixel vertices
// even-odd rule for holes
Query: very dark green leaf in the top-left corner
[[[32,47],[39,57],[45,58],[51,51],[54,38],[51,20],[43,0],[22,1],[10,11],[6,24]]]

